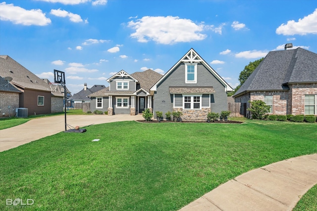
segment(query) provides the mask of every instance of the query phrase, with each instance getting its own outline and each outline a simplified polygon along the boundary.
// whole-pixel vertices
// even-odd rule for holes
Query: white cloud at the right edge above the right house
[[[317,8],[312,14],[305,16],[303,19],[287,21],[276,29],[278,35],[307,35],[317,34]]]

